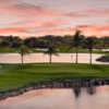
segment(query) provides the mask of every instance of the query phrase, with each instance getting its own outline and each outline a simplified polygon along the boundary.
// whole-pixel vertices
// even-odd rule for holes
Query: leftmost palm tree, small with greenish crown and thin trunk
[[[29,49],[25,45],[19,47],[19,53],[21,55],[22,65],[24,64],[24,56],[29,53]]]

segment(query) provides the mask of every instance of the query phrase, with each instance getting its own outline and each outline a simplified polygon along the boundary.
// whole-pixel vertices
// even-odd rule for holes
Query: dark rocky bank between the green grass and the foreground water
[[[24,86],[17,89],[1,92],[0,100],[4,100],[9,97],[20,96],[33,89],[92,87],[92,86],[100,86],[100,85],[101,86],[109,85],[109,78],[84,78],[84,80],[74,78],[74,80],[52,81],[52,82],[44,82],[44,83],[32,83],[28,86]]]

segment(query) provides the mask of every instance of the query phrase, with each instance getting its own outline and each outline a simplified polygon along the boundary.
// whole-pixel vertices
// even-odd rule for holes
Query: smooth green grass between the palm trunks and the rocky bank
[[[28,85],[55,80],[109,77],[108,65],[37,63],[2,64],[0,68],[0,92],[7,92]]]

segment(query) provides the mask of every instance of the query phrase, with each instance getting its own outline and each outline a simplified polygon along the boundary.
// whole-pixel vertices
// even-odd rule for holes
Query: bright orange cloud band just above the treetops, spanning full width
[[[34,35],[34,36],[43,36],[43,35],[60,35],[60,36],[64,36],[64,35],[74,35],[74,33],[76,32],[76,29],[80,29],[82,32],[83,35],[85,36],[109,36],[109,26],[104,26],[104,27],[99,27],[99,26],[78,26],[77,28],[52,28],[52,29],[39,29],[39,31],[35,31],[34,33],[32,33],[29,31],[31,28],[24,28],[24,27],[16,27],[16,28],[0,28],[0,34],[17,34],[17,33],[25,33],[27,35]]]

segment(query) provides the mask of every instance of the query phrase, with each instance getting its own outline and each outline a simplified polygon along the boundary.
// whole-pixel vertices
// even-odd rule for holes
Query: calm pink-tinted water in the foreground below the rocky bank
[[[109,109],[109,86],[32,90],[0,101],[0,109]]]

